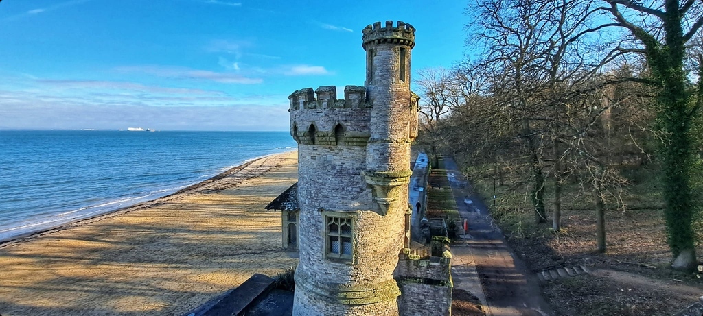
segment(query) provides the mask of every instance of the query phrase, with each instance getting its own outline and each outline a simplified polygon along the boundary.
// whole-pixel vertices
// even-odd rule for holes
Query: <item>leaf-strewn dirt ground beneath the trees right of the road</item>
[[[564,233],[511,238],[516,254],[532,270],[586,264],[591,275],[542,284],[557,315],[673,315],[703,296],[703,282],[669,268],[660,210],[607,214],[606,254],[595,254],[595,220],[588,211],[570,210]],[[703,247],[697,254],[703,255]]]

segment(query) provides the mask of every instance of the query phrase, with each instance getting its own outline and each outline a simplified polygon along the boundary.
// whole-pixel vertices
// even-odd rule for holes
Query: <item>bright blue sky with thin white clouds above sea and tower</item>
[[[0,129],[286,131],[292,91],[363,85],[373,22],[417,29],[413,73],[451,67],[466,4],[1,0]]]

